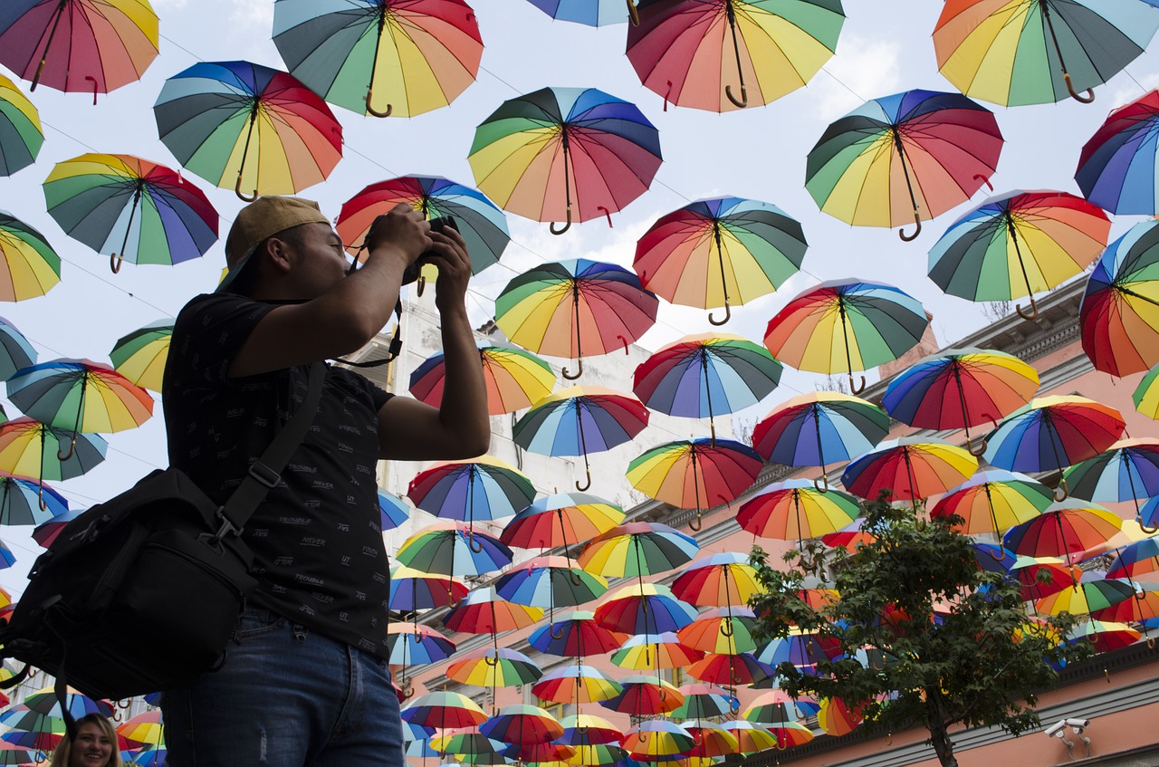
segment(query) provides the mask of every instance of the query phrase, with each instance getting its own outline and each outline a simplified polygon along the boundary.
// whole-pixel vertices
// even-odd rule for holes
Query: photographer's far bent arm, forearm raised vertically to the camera
[[[453,229],[431,233],[438,280],[435,305],[443,324],[445,379],[439,407],[391,397],[379,410],[379,458],[454,460],[482,455],[490,446],[483,364],[467,317],[471,258]]]

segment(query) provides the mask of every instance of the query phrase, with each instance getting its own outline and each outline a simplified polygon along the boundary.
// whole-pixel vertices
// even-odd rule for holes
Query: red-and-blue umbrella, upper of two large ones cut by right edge
[[[1159,90],[1114,109],[1083,145],[1074,181],[1083,196],[1111,213],[1159,213],[1156,138]]]

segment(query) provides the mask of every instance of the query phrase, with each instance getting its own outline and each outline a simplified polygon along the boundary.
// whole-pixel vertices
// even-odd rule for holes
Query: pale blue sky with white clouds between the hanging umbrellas
[[[760,342],[770,317],[788,299],[825,279],[859,277],[891,283],[918,298],[933,314],[940,344],[989,322],[982,305],[946,297],[926,277],[928,250],[938,236],[991,192],[975,197],[925,224],[910,243],[897,232],[852,227],[821,213],[804,189],[806,155],[825,126],[866,100],[912,88],[953,90],[936,70],[931,32],[942,3],[914,0],[851,0],[837,54],[812,81],[770,105],[728,114],[664,109],[663,98],[640,85],[625,51],[627,27],[590,28],[556,22],[526,0],[474,0],[484,43],[478,80],[450,107],[414,118],[378,119],[334,108],[343,125],[344,158],[326,183],[300,191],[336,217],[343,202],[364,187],[401,175],[440,175],[474,185],[467,154],[474,129],[508,98],[546,86],[595,87],[635,103],[659,130],[664,155],[648,192],[605,219],[573,226],[562,235],[546,224],[509,216],[512,242],[500,264],[473,279],[468,295],[478,327],[494,314],[494,299],[516,275],[544,262],[585,257],[630,268],[636,240],[661,216],[687,203],[722,195],[779,206],[802,222],[809,250],[802,270],[774,294],[735,307],[721,328]],[[68,238],[45,212],[41,184],[52,167],[86,152],[125,153],[177,168],[158,140],[152,105],[166,78],[197,61],[246,59],[284,68],[270,39],[274,2],[268,0],[153,0],[160,16],[160,56],[140,82],[102,95],[61,94],[39,87],[30,94],[41,110],[45,144],[37,162],[0,178],[0,207],[37,227],[63,260],[61,283],[46,295],[0,306],[41,361],[87,357],[108,361],[117,338],[162,317],[175,316],[192,295],[214,286],[224,266],[224,241],[242,203],[232,189],[216,189],[189,174],[221,216],[220,240],[199,260],[177,266],[125,264],[112,275],[108,257]],[[1159,13],[1159,9],[1156,9]],[[1152,51],[1156,45],[1152,45]],[[9,78],[10,72],[0,67]],[[15,78],[13,78],[15,79]],[[17,81],[28,94],[27,82]],[[1124,73],[1096,88],[1093,104],[992,109],[1006,139],[993,193],[1015,189],[1058,189],[1078,193],[1073,181],[1083,144],[1115,107],[1159,85],[1159,58],[1145,53]],[[1138,217],[1114,220],[1118,236]],[[906,227],[912,229],[912,225]],[[710,326],[700,309],[662,302],[656,327],[642,339],[649,349]],[[816,374],[787,371],[780,388],[743,414],[755,421],[778,402],[810,390]],[[872,377],[870,377],[872,380]],[[630,389],[626,381],[625,390]],[[19,410],[0,399],[9,417]],[[88,475],[54,487],[74,507],[87,507],[131,485],[166,461],[160,403],[140,429],[109,438],[108,460]],[[39,548],[30,528],[0,531],[15,567],[0,571],[0,585],[22,591]]]

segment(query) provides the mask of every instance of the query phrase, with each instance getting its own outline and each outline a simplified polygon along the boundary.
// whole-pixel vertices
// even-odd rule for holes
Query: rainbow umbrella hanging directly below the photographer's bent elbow
[[[467,523],[467,542],[475,554],[474,523],[510,517],[531,503],[535,488],[519,469],[490,455],[469,461],[440,461],[415,475],[407,496],[436,517]],[[510,549],[508,549],[510,554]]]

